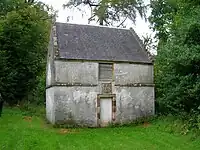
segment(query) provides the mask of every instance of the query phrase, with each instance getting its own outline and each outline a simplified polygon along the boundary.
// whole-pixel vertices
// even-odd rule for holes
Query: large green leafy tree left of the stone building
[[[16,3],[0,3],[9,8],[0,19],[0,92],[9,104],[25,98],[44,72],[51,22],[41,5]]]

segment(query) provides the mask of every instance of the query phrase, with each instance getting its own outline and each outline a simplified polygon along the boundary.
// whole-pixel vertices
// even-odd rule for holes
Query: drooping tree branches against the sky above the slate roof
[[[64,4],[64,8],[79,7],[81,4],[91,7],[92,17],[89,20],[96,20],[101,25],[120,27],[127,19],[135,22],[137,12],[142,18],[146,18],[143,0],[70,0]]]

